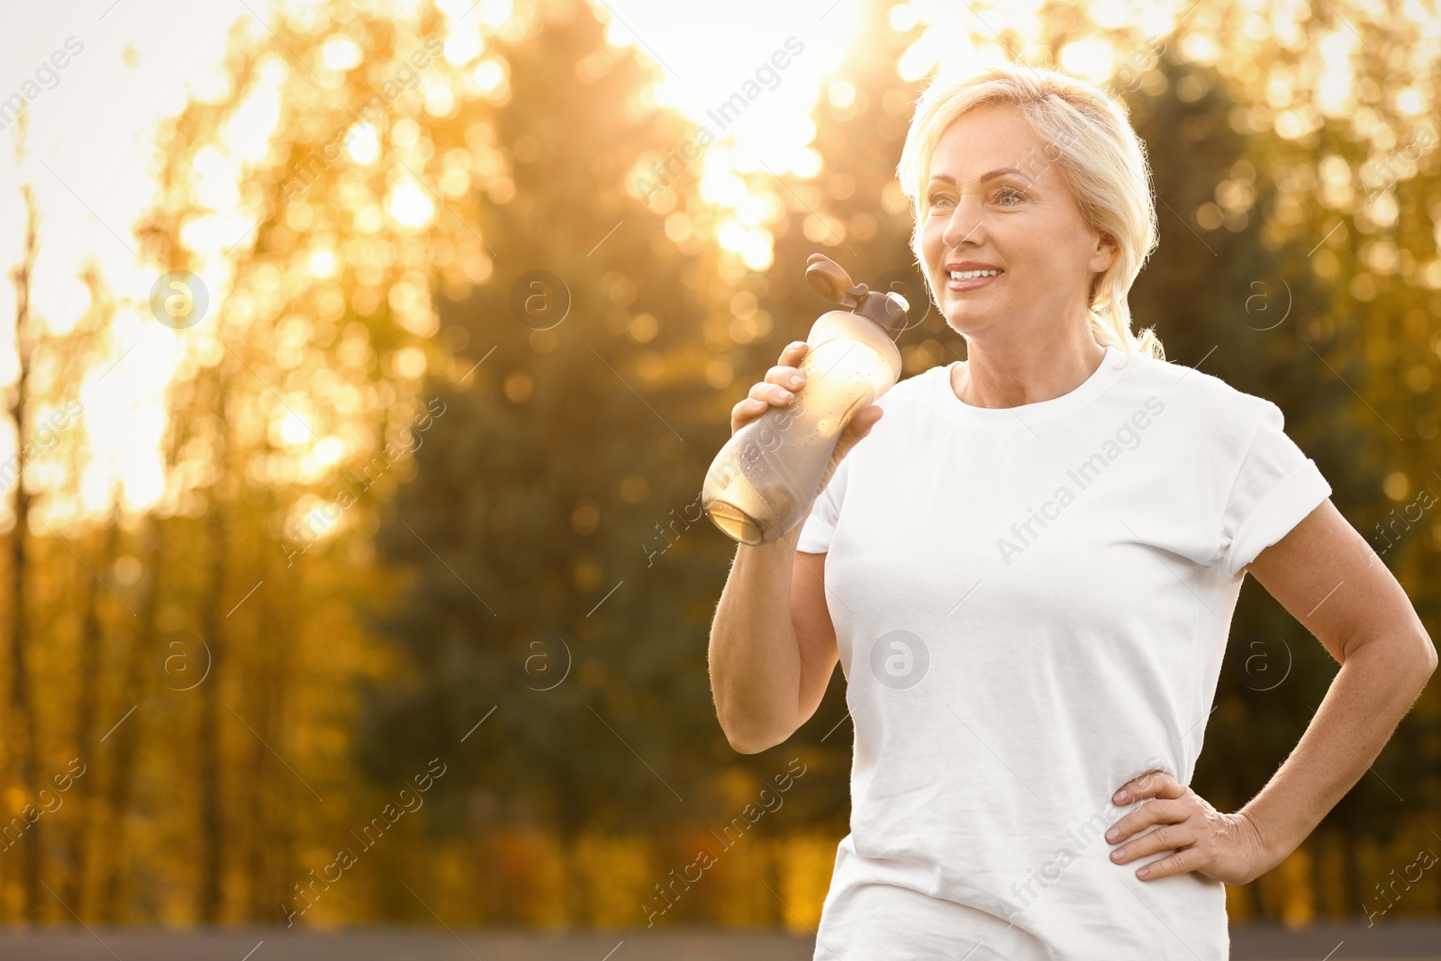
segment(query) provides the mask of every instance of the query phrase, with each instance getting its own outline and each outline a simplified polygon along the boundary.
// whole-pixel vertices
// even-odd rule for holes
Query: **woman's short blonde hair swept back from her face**
[[[1125,107],[1101,88],[1056,69],[996,63],[963,75],[942,73],[916,99],[896,177],[911,199],[915,218],[911,251],[931,297],[940,304],[921,249],[921,231],[929,215],[925,184],[931,179],[931,157],[954,121],[991,104],[1020,109],[1046,144],[1046,158],[1056,164],[1087,226],[1115,239],[1115,261],[1091,284],[1088,310],[1097,343],[1164,360],[1153,327],[1138,337],[1131,333],[1125,300],[1159,239],[1146,150]]]

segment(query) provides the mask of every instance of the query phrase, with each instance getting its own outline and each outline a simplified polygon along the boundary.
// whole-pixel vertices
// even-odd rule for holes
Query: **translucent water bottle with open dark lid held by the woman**
[[[810,513],[821,474],[852,415],[901,376],[895,339],[906,327],[905,298],[852,284],[823,254],[806,261],[806,280],[844,310],[821,314],[800,363],[806,383],[720,448],[700,488],[700,506],[726,536],[745,545],[780,540]]]

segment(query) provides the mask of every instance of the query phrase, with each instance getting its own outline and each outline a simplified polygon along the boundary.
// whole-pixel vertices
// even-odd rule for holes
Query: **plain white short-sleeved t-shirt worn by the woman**
[[[1226,958],[1223,886],[1112,863],[1111,795],[1190,782],[1239,571],[1331,488],[1199,370],[1108,347],[1001,409],[955,396],[961,363],[878,401],[801,530],[855,722],[814,957]]]

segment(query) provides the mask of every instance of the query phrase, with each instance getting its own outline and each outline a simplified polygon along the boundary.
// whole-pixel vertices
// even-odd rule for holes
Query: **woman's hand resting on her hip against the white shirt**
[[[1112,801],[1130,804],[1141,798],[1154,800],[1117,820],[1105,833],[1105,840],[1115,844],[1159,826],[1111,852],[1117,864],[1174,852],[1137,869],[1141,880],[1196,870],[1228,885],[1245,885],[1281,862],[1267,850],[1251,818],[1242,813],[1222,814],[1164,771],[1150,771],[1121,785]]]

